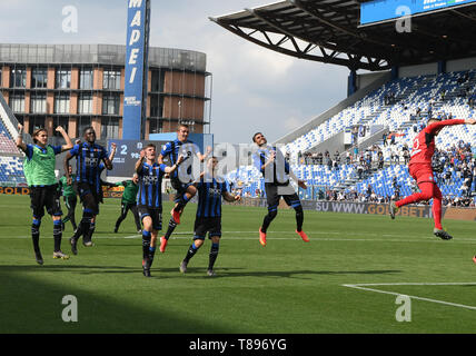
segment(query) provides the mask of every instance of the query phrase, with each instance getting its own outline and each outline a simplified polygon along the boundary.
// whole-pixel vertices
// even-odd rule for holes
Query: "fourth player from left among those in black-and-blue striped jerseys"
[[[208,259],[207,275],[215,276],[214,265],[218,257],[221,238],[221,197],[227,201],[237,201],[241,197],[228,191],[227,184],[221,177],[216,176],[218,159],[210,157],[207,162],[207,171],[201,175],[194,186],[198,189],[198,206],[194,227],[194,243],[188,248],[187,255],[180,264],[180,271],[187,271],[190,258],[197,254],[204,245],[205,237],[211,239],[211,248]]]

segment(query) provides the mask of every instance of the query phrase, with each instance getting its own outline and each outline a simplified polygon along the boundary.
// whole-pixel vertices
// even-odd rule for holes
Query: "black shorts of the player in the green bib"
[[[44,216],[44,208],[51,216],[61,216],[60,196],[61,191],[58,190],[58,185],[30,187],[30,207],[33,211],[33,217],[41,219]]]

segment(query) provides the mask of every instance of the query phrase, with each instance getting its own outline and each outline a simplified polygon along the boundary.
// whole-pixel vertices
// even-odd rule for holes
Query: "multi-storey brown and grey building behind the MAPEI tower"
[[[98,139],[122,138],[126,46],[0,44],[0,90],[29,134],[62,126],[71,137],[92,126]],[[149,134],[208,134],[211,73],[206,55],[149,49],[146,139]]]

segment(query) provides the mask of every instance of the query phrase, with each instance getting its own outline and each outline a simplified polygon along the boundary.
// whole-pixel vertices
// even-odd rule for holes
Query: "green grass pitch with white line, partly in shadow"
[[[305,212],[306,244],[292,210],[280,210],[261,247],[264,208],[225,206],[217,277],[206,275],[210,241],[189,264],[196,206],[190,204],[152,278],[141,274],[141,238],[132,216],[119,234],[120,201],[101,205],[96,246],[52,259],[46,216],[33,258],[29,198],[0,197],[0,333],[474,333],[475,224],[446,220],[450,241],[433,221],[388,216]],[[170,202],[166,204],[167,226]],[[77,207],[77,219],[81,210]],[[62,249],[70,254],[71,225]],[[365,288],[365,289],[361,289]],[[61,318],[63,296],[78,300],[78,322]],[[410,296],[410,322],[397,322],[398,295]]]

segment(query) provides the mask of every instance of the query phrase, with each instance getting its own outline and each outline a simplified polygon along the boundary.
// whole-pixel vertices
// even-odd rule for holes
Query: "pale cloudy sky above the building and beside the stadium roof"
[[[268,141],[345,99],[348,69],[295,59],[254,44],[209,20],[270,0],[152,0],[150,46],[207,55],[215,142]],[[276,2],[276,1],[275,1]],[[128,0],[2,0],[4,43],[126,43]],[[78,32],[62,31],[62,9],[78,10]]]

